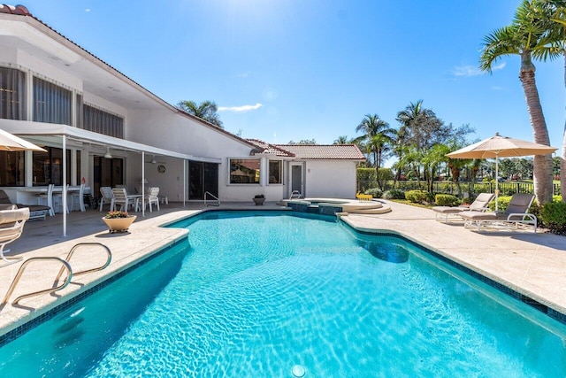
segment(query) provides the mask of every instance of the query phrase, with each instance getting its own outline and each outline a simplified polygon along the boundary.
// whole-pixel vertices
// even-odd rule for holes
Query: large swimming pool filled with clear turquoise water
[[[205,212],[0,349],[0,376],[564,376],[562,324],[394,236]],[[25,367],[24,367],[25,366]]]

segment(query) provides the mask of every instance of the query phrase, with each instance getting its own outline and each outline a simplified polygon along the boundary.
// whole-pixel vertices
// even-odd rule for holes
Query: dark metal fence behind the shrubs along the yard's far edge
[[[560,184],[553,184],[555,196],[560,195]],[[407,190],[426,190],[425,181],[386,181],[382,183],[382,187],[385,190],[389,189],[401,189],[403,191]],[[364,192],[367,189],[379,188],[377,181],[357,181],[358,191]],[[463,193],[494,193],[495,192],[495,182],[460,182],[460,188]],[[532,182],[499,182],[498,188],[501,196],[512,196],[514,193],[531,193],[534,194],[534,184]],[[434,181],[432,183],[432,190],[435,193],[447,193],[447,194],[457,194],[458,189],[452,181]],[[465,196],[464,196],[465,197]]]

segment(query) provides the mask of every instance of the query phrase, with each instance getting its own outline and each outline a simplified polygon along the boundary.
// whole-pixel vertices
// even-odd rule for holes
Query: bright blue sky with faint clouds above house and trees
[[[532,141],[519,58],[478,71],[485,35],[519,0],[27,0],[38,19],[170,104],[212,100],[227,131],[269,143],[391,127],[409,103],[484,139]],[[562,147],[563,60],[537,63],[551,144]]]

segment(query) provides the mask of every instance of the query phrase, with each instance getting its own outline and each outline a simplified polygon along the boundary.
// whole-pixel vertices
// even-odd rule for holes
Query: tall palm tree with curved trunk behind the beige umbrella
[[[534,142],[550,145],[547,122],[540,105],[539,90],[535,81],[532,55],[552,58],[555,55],[547,44],[547,21],[540,7],[541,0],[523,0],[516,10],[511,25],[496,29],[484,38],[484,50],[480,69],[492,72],[492,65],[499,58],[518,55],[521,58],[519,79],[523,85]],[[534,158],[534,189],[539,204],[552,201],[552,157],[537,155]]]

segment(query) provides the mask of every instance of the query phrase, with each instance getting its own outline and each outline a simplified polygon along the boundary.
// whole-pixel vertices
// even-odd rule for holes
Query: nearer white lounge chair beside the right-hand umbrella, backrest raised
[[[464,219],[464,227],[532,225],[537,232],[537,217],[529,213],[534,196],[532,194],[514,194],[504,212],[460,212],[458,215]]]

